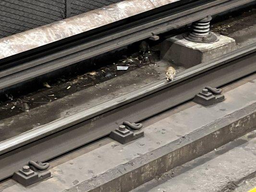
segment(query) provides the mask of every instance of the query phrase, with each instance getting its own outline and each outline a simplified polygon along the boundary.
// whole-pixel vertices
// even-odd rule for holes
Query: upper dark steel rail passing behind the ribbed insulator
[[[174,13],[169,16],[163,17],[162,15],[158,20],[150,20],[151,22],[145,24],[140,23],[137,26],[116,33],[111,33],[110,31],[111,35],[109,36],[103,36],[59,52],[51,50],[54,52],[53,54],[0,71],[0,89],[19,84],[116,48],[121,48],[150,37],[152,33],[164,33],[202,19],[207,15],[218,14],[253,1],[255,0],[215,0],[199,6],[195,6],[197,4],[193,2],[194,7],[191,4],[185,5],[177,8],[176,11],[174,10]],[[189,8],[190,6],[192,8]]]

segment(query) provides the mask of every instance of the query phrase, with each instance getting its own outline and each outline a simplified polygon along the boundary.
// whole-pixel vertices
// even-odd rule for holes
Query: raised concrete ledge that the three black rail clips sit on
[[[127,192],[255,129],[254,90],[256,75],[224,88],[226,100],[218,105],[204,108],[193,102],[184,104],[145,121],[143,138],[125,145],[110,139],[98,141],[51,162],[53,177],[49,180],[28,189],[6,180],[0,184],[0,190]]]

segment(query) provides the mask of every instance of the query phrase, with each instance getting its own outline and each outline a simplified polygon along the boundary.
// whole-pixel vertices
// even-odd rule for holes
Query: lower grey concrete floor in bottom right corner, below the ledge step
[[[131,192],[249,192],[256,187],[256,131]]]

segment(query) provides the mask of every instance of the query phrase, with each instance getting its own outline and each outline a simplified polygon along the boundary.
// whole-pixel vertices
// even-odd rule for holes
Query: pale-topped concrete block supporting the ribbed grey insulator
[[[188,41],[183,38],[183,34],[170,37],[162,43],[161,58],[171,64],[190,68],[236,49],[234,39],[216,35],[218,41],[213,43]]]

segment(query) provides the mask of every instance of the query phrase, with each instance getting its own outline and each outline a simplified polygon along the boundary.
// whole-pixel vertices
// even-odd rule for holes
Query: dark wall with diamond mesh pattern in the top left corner
[[[0,0],[0,38],[122,0]]]

